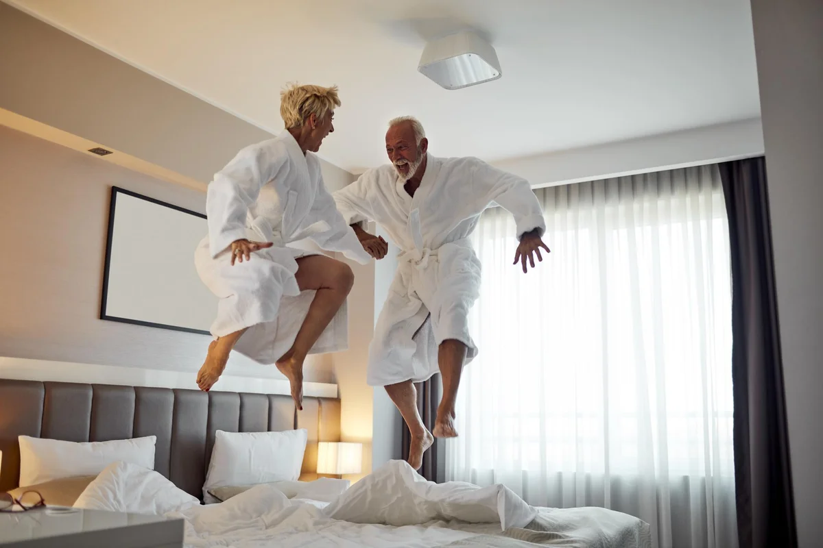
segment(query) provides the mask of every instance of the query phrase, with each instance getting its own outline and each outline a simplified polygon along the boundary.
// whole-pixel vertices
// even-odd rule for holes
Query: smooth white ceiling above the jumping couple
[[[5,1],[272,133],[283,85],[337,84],[320,155],[353,173],[401,114],[489,161],[760,116],[749,0]],[[443,90],[422,48],[465,29],[503,77]]]

